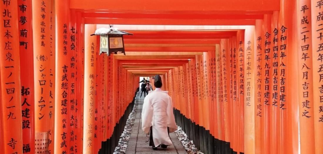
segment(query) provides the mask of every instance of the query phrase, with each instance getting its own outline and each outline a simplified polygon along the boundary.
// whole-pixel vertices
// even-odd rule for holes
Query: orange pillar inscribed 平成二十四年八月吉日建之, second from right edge
[[[300,152],[315,153],[310,0],[297,1],[297,29]]]

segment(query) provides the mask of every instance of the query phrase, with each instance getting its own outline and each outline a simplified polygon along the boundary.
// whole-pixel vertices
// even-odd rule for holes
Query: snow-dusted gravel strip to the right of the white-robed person
[[[186,133],[182,130],[181,127],[177,126],[175,135],[177,136],[178,140],[180,140],[188,154],[203,154],[203,152],[201,152],[195,147],[193,141],[187,138]]]

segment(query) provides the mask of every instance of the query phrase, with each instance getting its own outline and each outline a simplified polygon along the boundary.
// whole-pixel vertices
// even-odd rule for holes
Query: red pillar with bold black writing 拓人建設
[[[29,115],[22,116],[23,152],[35,153],[35,93],[34,93],[34,54],[31,0],[18,1],[18,17],[25,18],[26,23],[19,23],[19,52],[21,78],[21,108]]]

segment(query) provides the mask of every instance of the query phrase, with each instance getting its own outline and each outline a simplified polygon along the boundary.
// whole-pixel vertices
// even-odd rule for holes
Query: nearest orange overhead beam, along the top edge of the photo
[[[71,9],[172,11],[277,11],[279,0],[70,0]]]

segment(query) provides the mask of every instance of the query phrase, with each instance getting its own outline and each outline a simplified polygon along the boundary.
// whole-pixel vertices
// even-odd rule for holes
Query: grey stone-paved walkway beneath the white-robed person
[[[181,142],[177,139],[174,133],[169,134],[172,139],[173,145],[170,147],[167,147],[167,149],[158,148],[158,150],[153,150],[149,146],[149,142],[146,142],[148,138],[146,137],[146,134],[144,134],[144,132],[141,130],[141,111],[142,111],[143,99],[144,99],[144,96],[142,96],[138,102],[136,120],[132,128],[132,133],[131,133],[126,154],[151,154],[151,153],[187,154]]]

